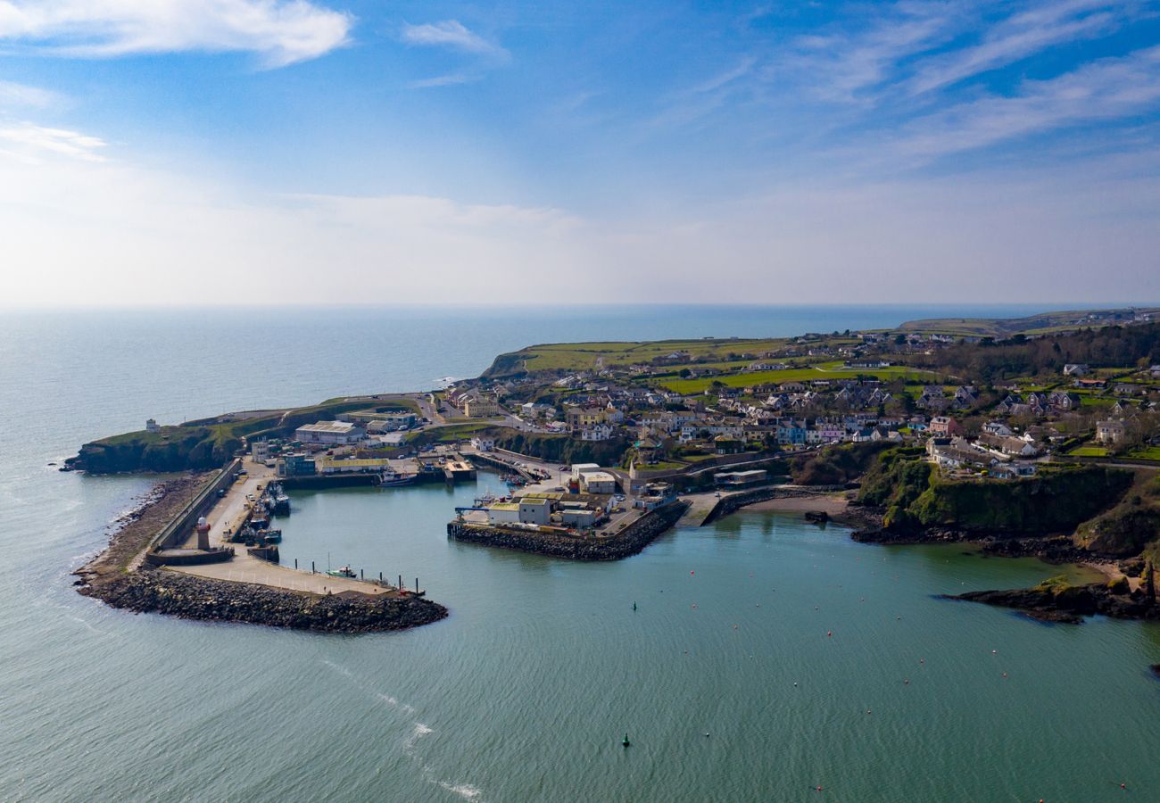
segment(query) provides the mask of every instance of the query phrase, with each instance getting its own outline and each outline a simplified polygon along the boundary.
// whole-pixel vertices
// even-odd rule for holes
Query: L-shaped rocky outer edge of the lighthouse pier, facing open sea
[[[409,593],[318,594],[143,565],[157,533],[211,476],[159,479],[114,522],[108,545],[73,572],[77,592],[133,613],[326,632],[405,630],[449,615],[444,606]]]

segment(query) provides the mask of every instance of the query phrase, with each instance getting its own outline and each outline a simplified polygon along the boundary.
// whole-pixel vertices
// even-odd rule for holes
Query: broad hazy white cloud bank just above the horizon
[[[398,194],[251,197],[119,159],[0,154],[0,208],[15,268],[0,272],[0,299],[16,305],[602,303],[610,288],[626,302],[1160,296],[1160,154],[800,181],[606,219]]]

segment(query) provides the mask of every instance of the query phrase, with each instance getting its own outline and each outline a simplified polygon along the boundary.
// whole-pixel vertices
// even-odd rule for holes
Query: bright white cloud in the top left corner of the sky
[[[350,26],[306,0],[0,0],[0,39],[82,57],[241,51],[276,67],[342,45]]]

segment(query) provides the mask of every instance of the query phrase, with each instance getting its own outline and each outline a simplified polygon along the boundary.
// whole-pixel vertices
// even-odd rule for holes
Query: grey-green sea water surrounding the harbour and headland
[[[1030,311],[0,313],[0,800],[1160,800],[1160,628],[936,598],[1060,571],[1037,560],[756,512],[611,564],[449,542],[484,473],[293,495],[284,558],[419,578],[451,616],[416,630],[137,616],[71,586],[150,479],[46,463],[148,417],[426,388],[534,342]]]

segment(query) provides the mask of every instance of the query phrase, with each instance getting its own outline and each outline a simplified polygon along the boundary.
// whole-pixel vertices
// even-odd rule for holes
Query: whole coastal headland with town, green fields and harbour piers
[[[1076,610],[1154,617],[1158,314],[541,345],[425,392],[150,420],[86,443],[64,466],[186,472],[80,572],[82,591],[133,610],[322,630],[434,621],[445,609],[401,577],[278,565],[282,489],[492,470],[509,493],[448,511],[449,537],[608,560],[679,520],[780,506],[844,516],[860,541],[971,541],[992,555],[1096,563],[1105,587],[970,599],[1039,615],[1056,601],[1066,621]]]

